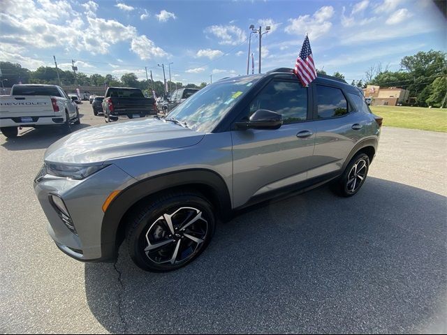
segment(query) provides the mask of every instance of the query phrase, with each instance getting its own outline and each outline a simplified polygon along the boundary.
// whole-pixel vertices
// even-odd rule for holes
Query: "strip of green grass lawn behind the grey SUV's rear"
[[[447,109],[369,106],[374,114],[383,117],[383,126],[442,131],[447,133]]]

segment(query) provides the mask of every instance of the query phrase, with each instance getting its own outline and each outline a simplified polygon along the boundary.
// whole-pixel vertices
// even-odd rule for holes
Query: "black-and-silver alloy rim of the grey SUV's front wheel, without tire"
[[[179,265],[200,251],[208,232],[203,211],[180,207],[156,219],[145,234],[145,254],[159,265]]]

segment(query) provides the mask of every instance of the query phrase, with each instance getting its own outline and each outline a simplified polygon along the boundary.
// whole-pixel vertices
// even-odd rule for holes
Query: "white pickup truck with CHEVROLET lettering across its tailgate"
[[[18,128],[57,125],[66,133],[80,124],[78,106],[56,85],[14,85],[10,96],[0,96],[0,131],[16,137]]]

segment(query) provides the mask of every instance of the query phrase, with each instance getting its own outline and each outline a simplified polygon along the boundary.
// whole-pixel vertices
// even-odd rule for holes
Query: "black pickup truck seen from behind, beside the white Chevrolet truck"
[[[131,87],[109,87],[103,100],[105,122],[117,121],[118,117],[146,117],[156,115],[158,110],[154,98],[146,98],[140,89]]]

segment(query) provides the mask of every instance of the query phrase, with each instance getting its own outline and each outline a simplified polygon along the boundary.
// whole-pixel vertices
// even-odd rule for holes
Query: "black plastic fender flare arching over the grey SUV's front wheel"
[[[149,177],[132,184],[124,189],[112,200],[105,211],[101,225],[101,259],[112,259],[117,255],[120,223],[126,211],[139,200],[164,191],[188,185],[200,185],[210,189],[214,200],[219,204],[219,214],[224,218],[231,212],[231,198],[223,178],[212,170],[190,169],[176,172],[168,172],[154,177]]]

